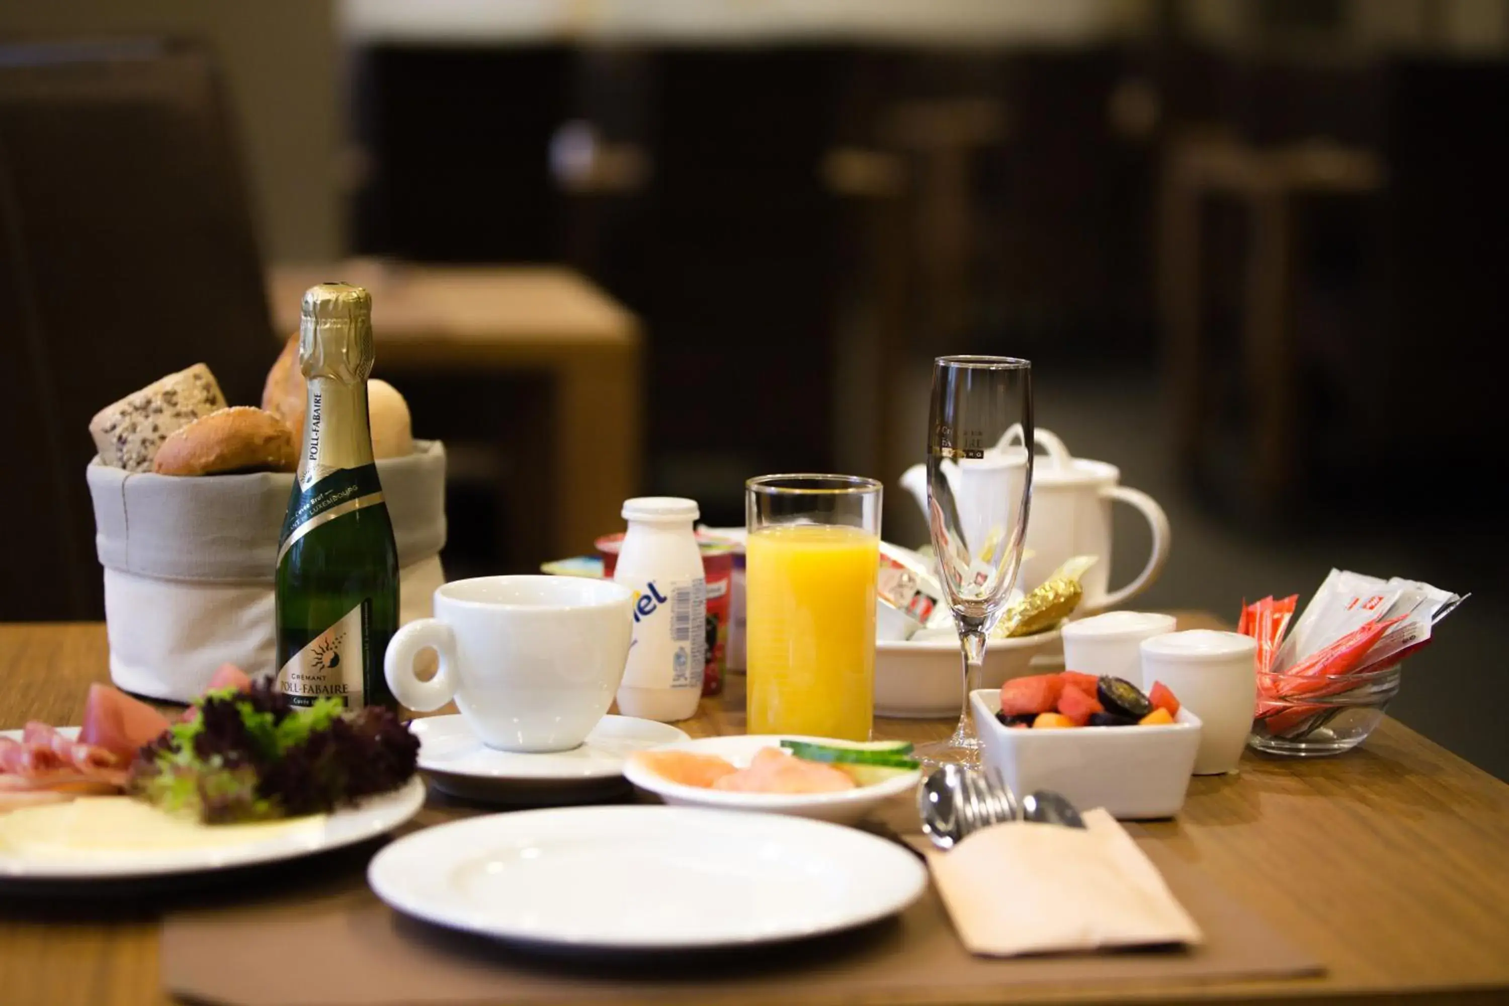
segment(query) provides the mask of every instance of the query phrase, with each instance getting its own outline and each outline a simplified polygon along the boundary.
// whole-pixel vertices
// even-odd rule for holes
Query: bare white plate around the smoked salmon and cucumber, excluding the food
[[[825,744],[827,738],[803,738],[791,733],[747,735],[742,738],[702,738],[665,744],[656,751],[691,751],[693,754],[715,754],[744,768],[761,748],[779,748],[782,741],[812,741]],[[839,742],[842,744],[842,742]],[[883,801],[902,793],[911,793],[922,780],[920,771],[905,772],[884,783],[860,786],[837,793],[742,793],[724,789],[703,789],[673,783],[632,757],[623,766],[623,777],[664,799],[681,807],[708,807],[712,810],[758,810],[768,814],[792,814],[851,825],[874,810]]]

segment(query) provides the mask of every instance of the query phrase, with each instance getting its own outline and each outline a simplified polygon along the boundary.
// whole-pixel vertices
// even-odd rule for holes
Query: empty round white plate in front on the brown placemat
[[[566,807],[416,831],[373,857],[392,908],[536,947],[681,950],[816,937],[899,912],[910,851],[853,828],[682,807]]]

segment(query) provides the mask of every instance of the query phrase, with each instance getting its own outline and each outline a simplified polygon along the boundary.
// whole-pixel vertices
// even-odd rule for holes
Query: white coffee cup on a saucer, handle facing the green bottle
[[[634,591],[576,576],[481,576],[435,591],[435,617],[398,629],[383,673],[400,703],[451,698],[487,747],[566,751],[585,739],[623,679]],[[439,670],[413,673],[433,647]]]

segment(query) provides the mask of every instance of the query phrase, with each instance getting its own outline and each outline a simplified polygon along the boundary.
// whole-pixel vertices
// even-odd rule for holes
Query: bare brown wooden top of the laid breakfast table
[[[78,722],[88,685],[107,679],[106,658],[103,624],[0,624],[0,728]],[[705,700],[682,725],[694,736],[742,733],[741,703]],[[881,719],[877,735],[931,741],[949,727]],[[1249,756],[1239,775],[1192,780],[1177,820],[1129,828],[1311,947],[1326,976],[1002,988],[1000,1000],[1509,997],[1509,786],[1393,719],[1340,757]],[[157,935],[149,908],[59,903],[39,914],[0,900],[0,1003],[166,1003]]]

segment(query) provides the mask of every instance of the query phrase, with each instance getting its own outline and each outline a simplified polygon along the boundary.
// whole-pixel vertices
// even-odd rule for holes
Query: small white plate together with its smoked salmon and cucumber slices
[[[631,754],[623,775],[667,804],[854,824],[922,778],[905,742],[753,735]]]

